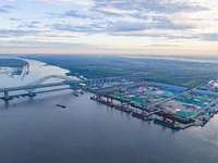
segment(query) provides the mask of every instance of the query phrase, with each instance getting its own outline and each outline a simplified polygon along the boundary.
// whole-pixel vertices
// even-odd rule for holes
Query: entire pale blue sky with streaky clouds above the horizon
[[[218,54],[217,0],[0,0],[0,53]]]

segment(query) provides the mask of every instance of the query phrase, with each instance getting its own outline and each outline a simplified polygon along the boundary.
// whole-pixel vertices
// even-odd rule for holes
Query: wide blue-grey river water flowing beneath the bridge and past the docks
[[[28,73],[24,68],[22,75],[13,77],[0,74],[0,87],[68,73],[27,61]],[[89,100],[90,96],[85,92],[75,97],[69,89],[1,100],[0,163],[218,162],[217,115],[205,127],[175,131],[98,104]],[[66,108],[57,108],[57,103]]]

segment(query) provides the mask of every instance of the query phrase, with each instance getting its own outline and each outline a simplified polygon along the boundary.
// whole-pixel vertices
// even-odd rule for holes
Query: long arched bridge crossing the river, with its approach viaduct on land
[[[98,86],[105,83],[122,82],[123,79],[129,80],[129,82],[142,80],[146,78],[147,74],[148,73],[135,73],[129,76],[114,76],[114,77],[104,77],[104,78],[84,79],[84,80],[76,80],[76,79],[72,79],[68,76],[62,76],[62,75],[49,75],[49,76],[39,78],[25,86],[0,88],[0,92],[4,92],[4,97],[2,98],[3,100],[11,100],[12,98],[9,96],[10,91],[25,90],[28,92],[27,95],[29,97],[33,97],[33,96],[36,96],[34,91],[38,88],[48,88],[48,87],[68,85],[70,86],[71,89],[77,89],[77,88],[84,88],[84,87],[90,87],[90,86]],[[59,78],[59,79],[62,79],[62,82],[45,84],[47,80],[51,78]]]

